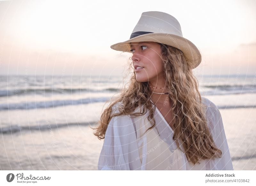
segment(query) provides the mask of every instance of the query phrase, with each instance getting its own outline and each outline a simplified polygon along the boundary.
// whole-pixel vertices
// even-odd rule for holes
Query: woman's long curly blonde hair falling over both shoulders
[[[198,81],[192,72],[192,66],[186,62],[181,50],[169,45],[161,45],[162,59],[164,63],[164,78],[169,91],[169,98],[172,101],[173,113],[173,140],[178,148],[182,142],[188,161],[193,164],[200,160],[215,159],[221,157],[221,150],[217,148],[208,129],[205,105],[202,104],[202,97],[198,90]],[[132,68],[132,65],[130,65]],[[122,102],[123,107],[118,108],[120,113],[111,115],[112,107]],[[139,105],[143,105],[142,113],[133,111]],[[148,120],[152,123],[149,129],[155,126],[155,107],[150,102],[150,89],[148,82],[138,82],[133,71],[128,87],[120,92],[120,96],[113,98],[109,106],[103,111],[100,117],[99,126],[92,128],[94,135],[104,139],[109,121],[113,116],[132,115],[139,116],[146,114],[149,110]],[[149,130],[148,129],[148,130]]]

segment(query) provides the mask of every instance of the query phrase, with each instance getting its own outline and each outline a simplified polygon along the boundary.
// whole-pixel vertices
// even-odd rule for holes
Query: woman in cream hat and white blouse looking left
[[[129,87],[104,110],[99,170],[233,170],[220,111],[201,97],[192,69],[201,62],[171,15],[143,12],[129,40]]]

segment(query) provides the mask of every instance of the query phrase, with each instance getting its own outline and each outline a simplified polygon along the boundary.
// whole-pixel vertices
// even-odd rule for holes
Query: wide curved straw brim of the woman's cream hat
[[[163,43],[175,48],[180,49],[188,63],[191,63],[193,69],[196,68],[202,60],[200,51],[198,48],[188,39],[180,37],[178,35],[169,34],[169,33],[147,33],[143,35],[139,35],[132,39],[129,39],[124,42],[116,43],[111,45],[110,48],[122,51],[122,52],[130,52],[130,42],[141,42],[141,41],[152,41],[157,43]]]

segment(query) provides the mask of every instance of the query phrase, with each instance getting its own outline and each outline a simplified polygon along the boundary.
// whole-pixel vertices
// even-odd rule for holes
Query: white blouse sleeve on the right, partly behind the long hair
[[[207,167],[210,170],[233,170],[222,117],[217,106],[211,101],[207,108],[207,122],[209,124],[215,145],[222,152],[221,158],[209,161]]]

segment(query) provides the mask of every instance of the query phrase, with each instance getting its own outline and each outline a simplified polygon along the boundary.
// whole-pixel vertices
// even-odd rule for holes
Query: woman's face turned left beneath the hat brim
[[[163,77],[161,46],[156,42],[132,42],[132,63],[139,82],[159,81]],[[136,69],[136,65],[143,67]]]

